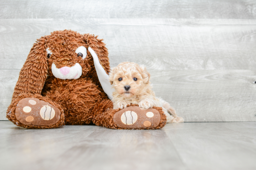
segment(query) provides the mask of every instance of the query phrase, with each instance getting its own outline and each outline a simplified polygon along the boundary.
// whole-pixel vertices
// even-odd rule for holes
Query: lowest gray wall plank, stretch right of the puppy
[[[256,121],[256,71],[149,70],[153,90],[185,122]]]

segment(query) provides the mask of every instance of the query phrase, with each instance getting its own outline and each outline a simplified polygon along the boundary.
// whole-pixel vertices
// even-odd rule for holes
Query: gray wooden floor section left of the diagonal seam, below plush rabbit
[[[67,125],[40,131],[5,122],[0,122],[3,169],[185,169],[163,130]]]

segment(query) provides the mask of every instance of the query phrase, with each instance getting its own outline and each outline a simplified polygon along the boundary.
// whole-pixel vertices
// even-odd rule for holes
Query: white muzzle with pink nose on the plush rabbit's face
[[[56,68],[56,65],[53,63],[51,65],[51,72],[53,72],[54,77],[59,79],[78,79],[82,75],[82,67],[80,64],[75,63],[72,67]]]

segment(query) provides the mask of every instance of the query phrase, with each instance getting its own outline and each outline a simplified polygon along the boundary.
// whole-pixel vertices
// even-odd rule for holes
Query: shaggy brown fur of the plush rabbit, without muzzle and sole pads
[[[112,109],[113,103],[101,87],[90,52],[87,50],[87,56],[84,59],[75,53],[80,46],[86,49],[91,47],[106,73],[109,73],[108,51],[97,36],[81,35],[71,30],[64,30],[41,37],[34,43],[20,71],[12,102],[7,110],[7,118],[10,121],[25,128],[56,128],[64,124],[94,123],[98,126],[120,129],[113,121],[113,116],[118,109]],[[46,48],[52,52],[49,58]],[[53,63],[56,68],[72,67],[79,63],[82,67],[82,75],[78,79],[56,78],[51,70]],[[47,124],[46,121],[44,125],[21,123],[15,115],[17,114],[15,109],[21,107],[21,100],[28,97],[44,101],[43,106],[49,104],[59,109],[59,121],[55,124]],[[23,105],[22,107],[25,106]],[[166,122],[164,114],[161,110],[159,112],[161,122],[157,128],[163,127]]]

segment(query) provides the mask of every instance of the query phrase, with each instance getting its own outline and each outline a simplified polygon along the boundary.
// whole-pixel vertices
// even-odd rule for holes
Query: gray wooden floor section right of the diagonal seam
[[[164,127],[188,169],[256,168],[256,122],[168,124]]]

